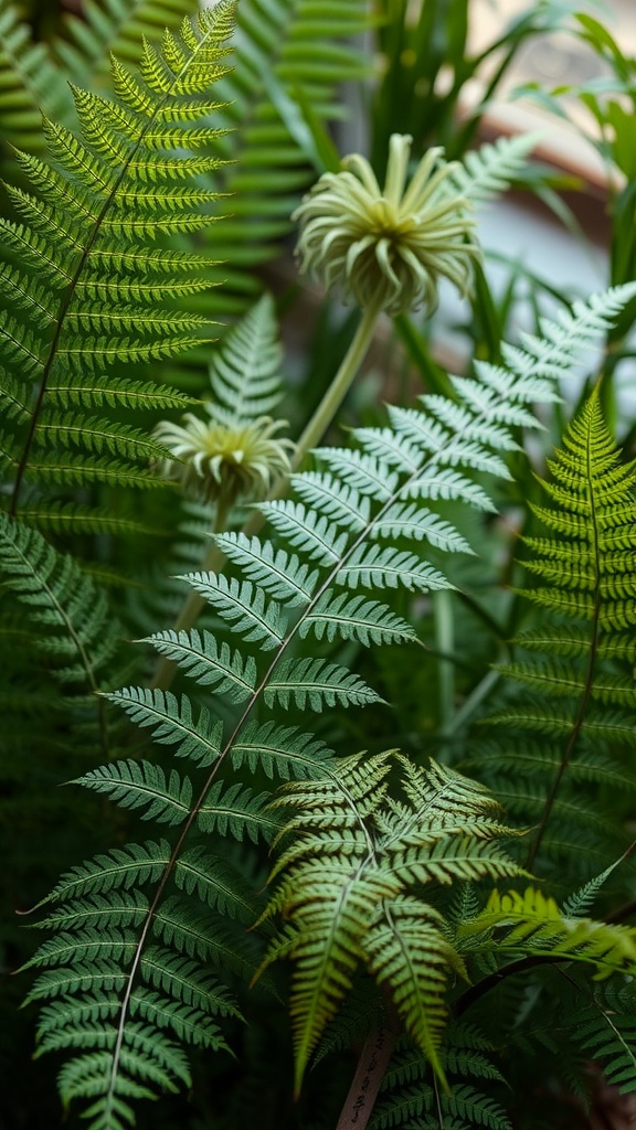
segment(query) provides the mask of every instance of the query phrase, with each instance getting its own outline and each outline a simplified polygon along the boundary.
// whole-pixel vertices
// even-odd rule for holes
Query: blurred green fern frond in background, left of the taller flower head
[[[369,71],[354,37],[371,23],[366,0],[241,0],[237,66],[218,87],[230,132],[214,149],[227,162],[214,183],[232,206],[213,246],[229,267],[217,275],[223,289],[201,299],[206,310],[242,311],[260,289],[255,269],[278,254],[302,192],[329,159],[316,137],[346,114],[342,84]]]

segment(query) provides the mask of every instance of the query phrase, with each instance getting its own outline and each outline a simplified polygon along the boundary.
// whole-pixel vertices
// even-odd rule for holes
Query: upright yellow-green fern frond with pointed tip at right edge
[[[634,741],[636,472],[620,460],[594,392],[549,461],[547,502],[533,506],[545,528],[524,538],[541,610],[501,668],[523,688],[490,719],[475,756],[507,809],[534,826],[530,861],[553,867],[567,854],[590,877],[628,840],[603,796],[629,796]],[[577,845],[585,844],[585,851]],[[609,851],[608,851],[609,849]]]

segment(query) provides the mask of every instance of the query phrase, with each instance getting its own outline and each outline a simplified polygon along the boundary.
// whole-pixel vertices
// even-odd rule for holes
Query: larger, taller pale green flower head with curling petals
[[[384,191],[367,158],[354,154],[342,172],[320,177],[293,216],[301,271],[393,316],[435,310],[440,277],[469,294],[480,255],[471,205],[454,183],[458,163],[429,149],[406,185],[412,140],[392,136]]]

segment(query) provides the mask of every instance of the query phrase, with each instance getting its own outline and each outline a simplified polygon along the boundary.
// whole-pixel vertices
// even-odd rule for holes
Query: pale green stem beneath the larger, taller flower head
[[[327,389],[323,400],[318,405],[318,408],[313,412],[313,416],[309,420],[307,427],[304,428],[300,440],[298,441],[294,454],[291,460],[291,473],[293,473],[301,464],[302,460],[307,455],[308,451],[311,451],[317,443],[320,442],[325,432],[332,424],[338,408],[341,407],[346,393],[349,392],[356,373],[360,370],[364,357],[369,350],[369,346],[373,340],[373,333],[378,322],[378,318],[381,313],[381,304],[372,303],[363,311],[360,324],[353,336],[353,340],[343,357],[342,364],[332,381],[329,388]],[[274,498],[280,498],[286,494],[289,489],[289,477],[280,479],[275,487],[269,492],[267,501],[270,502]],[[220,525],[220,511],[216,515],[215,532],[220,532],[221,529],[225,527]],[[226,522],[227,514],[223,514],[223,522]],[[247,520],[242,528],[242,532],[248,537],[253,537],[260,530],[265,522],[264,514],[260,511],[255,511],[253,514]],[[210,546],[203,563],[201,570],[205,573],[220,572],[225,563],[225,554],[218,549],[216,545]],[[190,591],[186,598],[181,611],[177,617],[173,628],[175,632],[184,632],[191,628],[200,616],[203,608],[205,607],[205,600],[199,596],[198,592],[194,590]],[[167,690],[175,673],[175,664],[172,660],[162,659],[157,664],[155,677],[152,683],[153,689]]]

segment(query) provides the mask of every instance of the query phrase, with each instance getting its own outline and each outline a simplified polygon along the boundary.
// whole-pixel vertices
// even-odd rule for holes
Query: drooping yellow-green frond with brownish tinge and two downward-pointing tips
[[[478,847],[470,878],[491,875],[495,859],[496,871],[517,873],[497,845],[507,829],[492,819],[496,806],[479,785],[432,765],[428,774],[406,771],[396,800],[387,793],[387,767],[386,754],[359,755],[328,779],[286,786],[275,802],[290,816],[268,914],[282,913],[285,927],[263,967],[278,956],[294,963],[296,1088],[360,965],[389,993],[405,1031],[444,1079],[447,981],[465,970],[447,923],[426,899],[427,885],[466,878],[469,844]],[[441,872],[436,859],[444,859]]]

